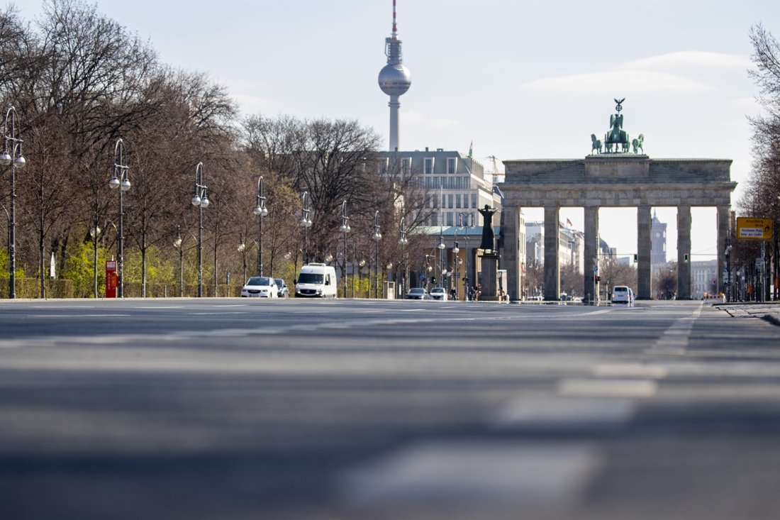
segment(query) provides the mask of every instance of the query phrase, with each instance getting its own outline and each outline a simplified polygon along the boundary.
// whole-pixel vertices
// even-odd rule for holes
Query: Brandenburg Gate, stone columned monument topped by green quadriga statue
[[[621,104],[610,117],[612,129],[603,143],[591,135],[591,155],[583,159],[530,159],[504,161],[505,182],[502,243],[507,269],[509,297],[519,300],[519,212],[520,208],[544,208],[544,300],[558,301],[558,213],[562,207],[585,210],[584,271],[586,298],[597,298],[594,267],[598,262],[598,209],[636,208],[636,298],[652,297],[651,208],[677,208],[677,297],[691,296],[690,208],[714,206],[718,209],[718,292],[725,292],[726,237],[729,233],[731,180],[728,159],[655,159],[644,155],[644,136],[629,141],[622,130]],[[633,152],[631,148],[633,147]],[[639,151],[641,150],[641,153]],[[513,244],[513,245],[512,245]]]

